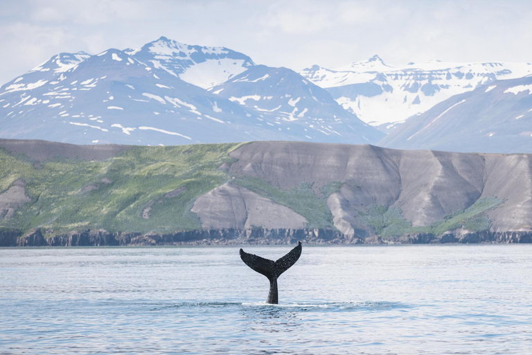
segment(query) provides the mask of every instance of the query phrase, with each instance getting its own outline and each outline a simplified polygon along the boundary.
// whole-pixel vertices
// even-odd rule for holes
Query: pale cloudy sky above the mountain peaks
[[[530,19],[529,0],[0,0],[0,85],[56,53],[161,36],[294,70],[375,54],[391,65],[532,62]]]

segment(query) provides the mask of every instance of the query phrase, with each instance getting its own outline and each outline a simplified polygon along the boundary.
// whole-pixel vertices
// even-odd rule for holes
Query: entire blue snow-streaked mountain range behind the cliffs
[[[532,153],[531,75],[530,63],[391,67],[377,55],[297,73],[224,47],[161,37],[140,49],[60,53],[2,85],[0,137],[133,145],[282,140]]]

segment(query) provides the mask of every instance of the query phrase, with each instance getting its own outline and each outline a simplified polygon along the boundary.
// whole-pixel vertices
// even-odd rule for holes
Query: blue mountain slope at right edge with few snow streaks
[[[389,148],[532,153],[532,76],[497,80],[408,119],[378,143]]]

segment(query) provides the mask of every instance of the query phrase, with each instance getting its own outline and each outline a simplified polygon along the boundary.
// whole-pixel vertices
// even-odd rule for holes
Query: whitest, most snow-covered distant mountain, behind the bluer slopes
[[[326,88],[346,110],[382,130],[456,94],[531,73],[531,63],[431,61],[389,67],[378,55],[334,70],[314,65],[301,71],[303,77]]]

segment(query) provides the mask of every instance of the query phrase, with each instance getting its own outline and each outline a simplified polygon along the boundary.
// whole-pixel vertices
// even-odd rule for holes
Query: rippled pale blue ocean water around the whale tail
[[[532,245],[303,245],[278,287],[234,247],[0,249],[0,354],[532,354]]]

